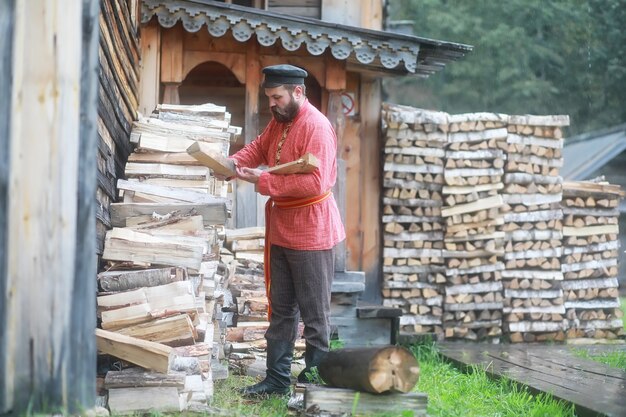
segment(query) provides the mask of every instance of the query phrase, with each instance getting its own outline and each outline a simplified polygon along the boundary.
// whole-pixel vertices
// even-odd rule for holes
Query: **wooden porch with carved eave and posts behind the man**
[[[244,128],[231,147],[236,151],[270,118],[259,88],[261,69],[279,63],[306,69],[307,96],[339,138],[343,171],[335,192],[345,211],[347,239],[338,270],[364,271],[363,297],[376,300],[381,78],[427,77],[471,47],[382,31],[384,2],[379,0],[237,3],[254,7],[208,0],[142,2],[139,111],[150,113],[158,103],[225,105],[232,123]],[[234,220],[236,227],[263,224],[262,201],[241,181]]]

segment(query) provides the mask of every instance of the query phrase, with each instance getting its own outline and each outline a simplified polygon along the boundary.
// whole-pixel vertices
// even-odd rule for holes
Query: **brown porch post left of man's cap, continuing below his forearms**
[[[261,63],[259,44],[256,39],[248,42],[246,49],[246,113],[244,135],[246,145],[259,134],[259,91],[261,86]],[[235,227],[257,226],[257,206],[259,198],[254,185],[237,181],[237,208]],[[262,224],[262,223],[261,223]]]

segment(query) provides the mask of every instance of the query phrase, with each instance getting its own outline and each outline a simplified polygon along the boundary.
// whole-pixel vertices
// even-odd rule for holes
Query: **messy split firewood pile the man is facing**
[[[240,131],[229,120],[210,104],[160,105],[133,126],[98,275],[98,350],[118,368],[103,381],[112,413],[207,412],[225,377],[216,272],[230,200],[186,149],[227,155]]]

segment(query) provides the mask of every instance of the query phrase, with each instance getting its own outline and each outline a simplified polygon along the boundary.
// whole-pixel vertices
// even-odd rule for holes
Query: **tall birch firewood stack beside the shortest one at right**
[[[509,116],[503,271],[505,326],[513,342],[563,340],[560,208],[567,116]]]

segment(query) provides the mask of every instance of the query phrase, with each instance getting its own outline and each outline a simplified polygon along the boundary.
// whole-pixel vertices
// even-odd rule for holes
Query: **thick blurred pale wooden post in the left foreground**
[[[15,25],[13,59],[1,52],[13,73],[11,107],[2,116],[8,114],[10,123],[2,135],[10,169],[0,183],[9,184],[4,193],[10,199],[0,227],[6,244],[0,412],[76,412],[95,398],[91,223],[99,7],[89,0],[9,3],[14,13],[6,10],[12,5],[0,6]],[[6,25],[0,28],[5,32]],[[79,163],[81,157],[86,159]]]

